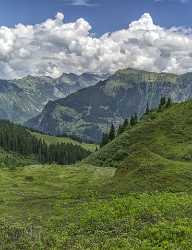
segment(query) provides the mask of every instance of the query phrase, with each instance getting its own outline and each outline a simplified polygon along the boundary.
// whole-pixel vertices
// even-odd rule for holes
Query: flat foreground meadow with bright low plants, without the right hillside
[[[0,171],[0,249],[190,249],[191,193],[111,193],[113,168]]]

